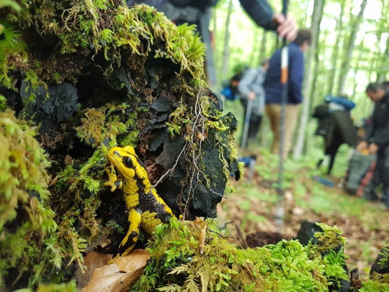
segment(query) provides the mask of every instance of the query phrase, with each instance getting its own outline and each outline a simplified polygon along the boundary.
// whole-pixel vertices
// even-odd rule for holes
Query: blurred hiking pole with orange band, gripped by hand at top
[[[288,0],[283,0],[283,15],[286,18],[288,9]],[[286,101],[288,96],[288,48],[286,46],[286,38],[283,37],[283,48],[281,50],[281,84],[283,86],[281,99],[281,123],[280,123],[280,162],[278,166],[278,187],[277,193],[279,201],[276,206],[275,222],[281,227],[283,224],[284,214],[284,194],[283,194],[283,149],[285,147],[285,111]]]

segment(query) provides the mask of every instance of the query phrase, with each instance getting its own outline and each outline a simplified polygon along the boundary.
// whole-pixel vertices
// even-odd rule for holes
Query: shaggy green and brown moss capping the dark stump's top
[[[140,73],[150,54],[170,59],[179,65],[179,75],[189,73],[201,83],[205,47],[195,35],[195,27],[177,27],[151,7],[129,8],[124,2],[111,0],[21,0],[20,7],[20,11],[0,19],[5,35],[5,41],[0,42],[5,48],[0,54],[0,84],[8,88],[16,90],[12,86],[15,68],[34,74],[36,78],[26,76],[32,87],[41,81],[74,82],[88,65],[77,63],[74,56],[88,55],[93,60],[98,54],[104,56],[106,76],[125,62]],[[17,29],[22,33],[17,34]],[[25,41],[33,44],[37,39],[43,41],[36,43],[38,50],[43,45],[39,56],[34,51],[28,55]],[[151,50],[153,45],[158,49]],[[134,59],[139,63],[123,59],[127,54],[137,55]]]

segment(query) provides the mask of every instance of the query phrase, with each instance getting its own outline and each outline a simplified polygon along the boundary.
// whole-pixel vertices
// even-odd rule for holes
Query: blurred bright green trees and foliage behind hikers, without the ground
[[[282,10],[282,1],[269,1],[274,11]],[[293,157],[308,148],[321,147],[321,139],[312,139],[316,121],[311,118],[315,106],[327,94],[346,94],[356,103],[355,120],[371,114],[371,101],[365,94],[370,82],[386,80],[389,67],[388,0],[291,0],[288,13],[298,26],[312,30],[312,44],[305,53],[305,77],[300,125],[296,131]],[[274,32],[258,27],[238,0],[220,0],[213,9],[210,29],[214,37],[215,65],[219,82],[230,78],[244,65],[259,66],[282,41]],[[241,116],[240,105],[234,112]],[[266,119],[261,145],[268,147],[271,136]]]

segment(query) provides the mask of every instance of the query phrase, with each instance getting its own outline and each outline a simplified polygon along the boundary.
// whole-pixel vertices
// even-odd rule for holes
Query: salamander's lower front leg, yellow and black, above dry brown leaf
[[[112,258],[108,263],[112,263],[113,260],[118,256],[125,256],[131,252],[134,248],[135,243],[138,240],[139,236],[139,227],[141,225],[141,210],[139,209],[131,209],[128,214],[128,222],[130,226],[128,228],[128,232],[123,238],[122,242],[119,245],[119,253]]]

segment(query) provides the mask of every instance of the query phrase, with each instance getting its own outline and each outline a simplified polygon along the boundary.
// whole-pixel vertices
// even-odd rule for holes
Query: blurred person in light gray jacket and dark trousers
[[[245,109],[245,117],[248,108],[248,100],[252,100],[247,141],[252,141],[256,138],[261,125],[262,115],[265,109],[265,89],[263,87],[263,83],[265,81],[266,70],[268,67],[269,60],[265,59],[262,61],[261,67],[248,69],[244,73],[238,85],[240,101]],[[242,148],[247,148],[247,146],[248,145],[241,145]]]

